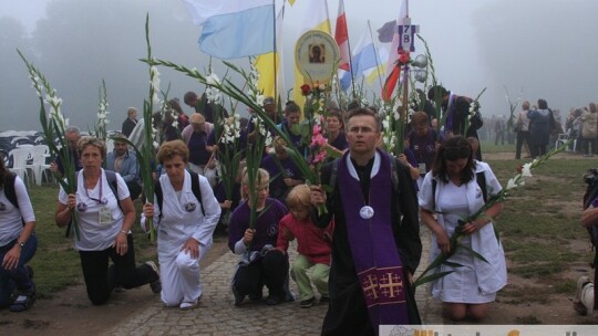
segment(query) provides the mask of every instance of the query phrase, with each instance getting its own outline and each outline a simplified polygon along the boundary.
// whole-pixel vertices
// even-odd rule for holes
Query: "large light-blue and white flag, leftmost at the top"
[[[272,0],[184,0],[196,25],[199,49],[228,60],[274,51]]]

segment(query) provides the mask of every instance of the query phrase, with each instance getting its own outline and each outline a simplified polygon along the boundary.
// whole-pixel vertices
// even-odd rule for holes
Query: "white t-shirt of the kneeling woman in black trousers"
[[[123,227],[124,213],[118,207],[118,200],[130,197],[128,188],[121,175],[116,172],[117,200],[110,189],[104,169],[101,177],[101,183],[97,182],[93,189],[85,190],[82,170],[76,176],[75,213],[79,221],[79,239],[75,237],[75,249],[80,251],[102,251],[110,248]],[[68,195],[61,187],[59,202],[66,204],[66,201]],[[111,221],[107,223],[100,222],[100,211],[104,207],[111,212]]]

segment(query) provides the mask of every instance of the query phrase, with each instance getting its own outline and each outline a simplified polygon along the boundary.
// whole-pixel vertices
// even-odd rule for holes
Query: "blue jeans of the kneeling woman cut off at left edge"
[[[31,234],[29,240],[21,250],[21,259],[19,265],[13,270],[4,270],[2,261],[4,255],[14,246],[17,240],[0,246],[0,307],[6,307],[10,304],[10,295],[17,288],[21,292],[31,291],[33,288],[33,282],[29,279],[29,271],[25,267],[35,251],[38,250],[38,238],[35,234]]]

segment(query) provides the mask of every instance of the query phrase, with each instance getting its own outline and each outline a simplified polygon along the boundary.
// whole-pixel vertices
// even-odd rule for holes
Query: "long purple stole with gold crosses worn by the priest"
[[[365,204],[361,182],[347,166],[348,154],[339,162],[339,188],[357,275],[363,291],[370,321],[378,335],[379,325],[409,324],[403,263],[396,250],[391,216],[391,171],[389,156],[378,150],[380,169],[370,181],[370,202]],[[373,191],[373,192],[372,192]],[[363,219],[360,210],[373,208]]]

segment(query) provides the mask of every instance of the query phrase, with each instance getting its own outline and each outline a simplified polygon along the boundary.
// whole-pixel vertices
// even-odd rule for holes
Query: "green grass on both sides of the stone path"
[[[482,144],[486,153],[513,148]],[[515,176],[524,160],[488,161],[503,186]],[[596,164],[594,160],[555,156],[548,164],[534,171],[515,196],[506,201],[505,210],[496,221],[503,239],[511,273],[527,279],[550,280],[558,277],[567,265],[587,263],[589,253],[571,251],[571,241],[586,243],[587,233],[579,227],[581,196],[585,190],[582,174]],[[56,291],[82,282],[79,255],[73,239],[64,237],[53,216],[56,207],[58,186],[31,186],[30,196],[37,217],[38,253],[31,261],[35,270],[39,294],[51,297]],[[141,203],[135,202],[141,210]],[[138,221],[133,227],[137,262],[156,259],[155,244],[141,231]],[[575,283],[566,282],[554,291],[571,291]]]

